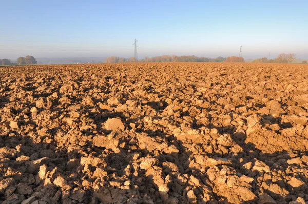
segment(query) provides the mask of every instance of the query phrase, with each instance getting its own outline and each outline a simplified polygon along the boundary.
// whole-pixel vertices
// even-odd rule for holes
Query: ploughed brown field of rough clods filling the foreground
[[[307,203],[308,66],[0,68],[0,203]]]

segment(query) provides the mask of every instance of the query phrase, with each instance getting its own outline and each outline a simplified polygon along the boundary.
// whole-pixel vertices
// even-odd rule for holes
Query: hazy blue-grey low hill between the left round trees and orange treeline
[[[102,64],[106,57],[42,57],[36,58],[38,65],[64,65],[64,64]],[[51,63],[50,63],[51,62]]]

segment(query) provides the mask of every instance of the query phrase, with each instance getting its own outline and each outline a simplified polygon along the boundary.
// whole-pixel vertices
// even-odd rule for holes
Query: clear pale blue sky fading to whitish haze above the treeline
[[[0,58],[308,58],[308,1],[3,1]]]

